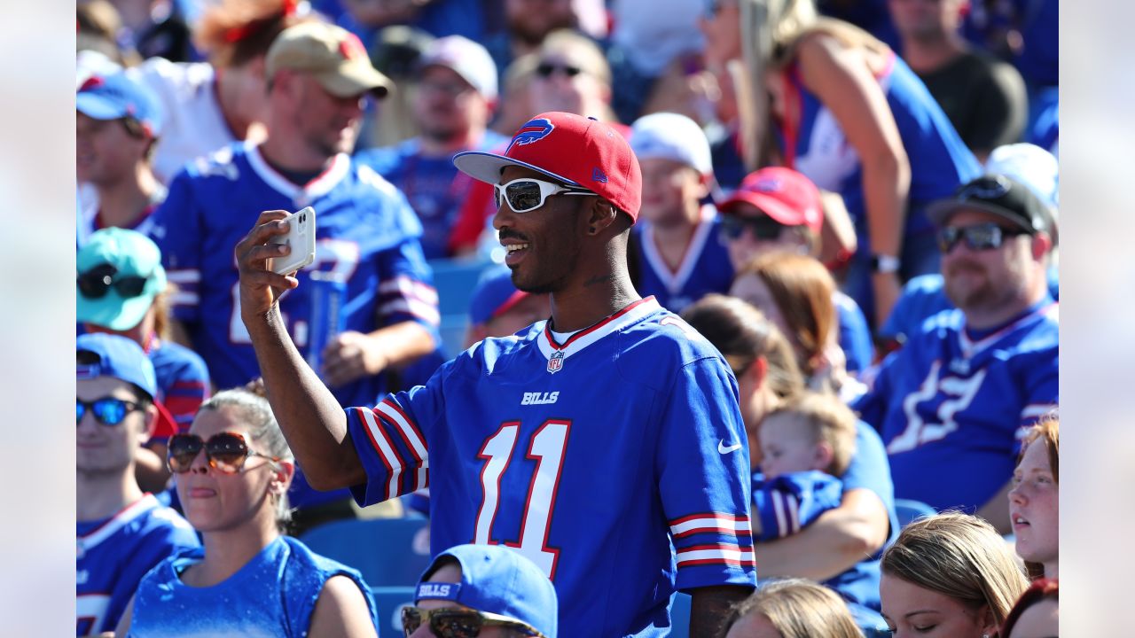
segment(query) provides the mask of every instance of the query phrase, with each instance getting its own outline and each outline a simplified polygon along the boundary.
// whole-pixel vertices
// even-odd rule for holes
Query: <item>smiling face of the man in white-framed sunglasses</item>
[[[535,170],[510,166],[498,183],[521,177],[550,181]],[[579,270],[577,263],[587,233],[585,207],[592,202],[594,196],[556,194],[535,210],[514,212],[502,199],[493,227],[508,251],[505,265],[512,270],[512,283],[518,289],[555,293],[569,286]]]

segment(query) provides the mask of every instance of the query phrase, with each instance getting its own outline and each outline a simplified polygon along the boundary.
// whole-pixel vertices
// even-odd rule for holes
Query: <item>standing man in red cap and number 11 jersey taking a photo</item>
[[[283,213],[237,245],[242,317],[275,412],[314,485],[376,503],[429,485],[435,552],[515,548],[556,587],[563,636],[663,636],[675,589],[713,636],[756,585],[737,384],[697,331],[640,299],[627,242],[641,173],[611,126],[533,117],[503,156],[455,157],[494,184],[521,291],[552,318],[489,338],[424,386],[340,410],[284,338],[294,277],[264,268]]]

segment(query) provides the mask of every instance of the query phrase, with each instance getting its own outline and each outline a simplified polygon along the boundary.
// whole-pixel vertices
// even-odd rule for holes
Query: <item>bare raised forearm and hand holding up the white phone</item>
[[[294,276],[267,269],[268,258],[291,250],[267,243],[287,233],[287,223],[281,221],[285,216],[283,210],[260,213],[255,227],[236,245],[241,319],[252,338],[272,412],[308,481],[317,489],[360,485],[367,481],[367,473],[347,437],[346,415],[300,355],[280,317],[280,295],[300,283]]]

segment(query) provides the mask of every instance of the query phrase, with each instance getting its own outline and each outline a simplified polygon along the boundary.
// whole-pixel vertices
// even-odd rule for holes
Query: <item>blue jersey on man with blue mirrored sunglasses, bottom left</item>
[[[174,510],[146,494],[109,519],[78,521],[75,582],[77,636],[114,631],[151,568],[197,535]]]

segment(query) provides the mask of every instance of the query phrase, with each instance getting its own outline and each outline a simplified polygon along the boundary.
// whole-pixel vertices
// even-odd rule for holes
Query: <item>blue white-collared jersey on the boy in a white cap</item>
[[[636,289],[642,296],[654,296],[671,312],[681,312],[707,293],[729,292],[733,267],[722,243],[721,218],[712,205],[701,207],[701,219],[693,229],[686,255],[678,268],[671,268],[654,241],[653,225],[640,219],[631,228],[636,234],[630,259],[638,261]]]

